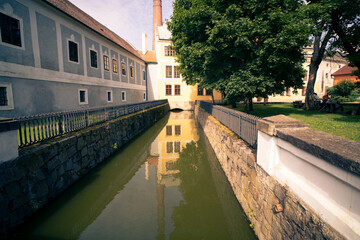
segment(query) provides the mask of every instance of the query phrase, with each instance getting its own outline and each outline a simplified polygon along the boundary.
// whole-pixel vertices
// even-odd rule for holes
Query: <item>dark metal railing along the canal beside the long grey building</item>
[[[103,123],[124,115],[167,103],[167,100],[126,104],[86,110],[48,113],[19,120],[19,147],[29,146],[43,140]]]

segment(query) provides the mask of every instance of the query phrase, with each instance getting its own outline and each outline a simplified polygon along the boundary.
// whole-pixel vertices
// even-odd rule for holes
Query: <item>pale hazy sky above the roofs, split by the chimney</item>
[[[70,0],[78,8],[141,50],[141,36],[152,48],[152,0]],[[162,0],[162,19],[170,20],[173,0]]]

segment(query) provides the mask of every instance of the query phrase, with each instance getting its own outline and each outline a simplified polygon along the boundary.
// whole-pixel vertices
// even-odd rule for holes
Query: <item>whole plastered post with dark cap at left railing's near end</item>
[[[19,156],[18,130],[19,120],[0,118],[0,162]]]

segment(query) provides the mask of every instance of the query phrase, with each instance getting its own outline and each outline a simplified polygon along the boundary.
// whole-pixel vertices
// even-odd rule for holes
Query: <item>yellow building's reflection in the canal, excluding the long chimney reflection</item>
[[[168,123],[151,144],[151,156],[147,161],[156,166],[157,183],[166,187],[180,184],[174,176],[179,172],[176,167],[179,153],[188,142],[198,139],[193,112],[171,112]]]

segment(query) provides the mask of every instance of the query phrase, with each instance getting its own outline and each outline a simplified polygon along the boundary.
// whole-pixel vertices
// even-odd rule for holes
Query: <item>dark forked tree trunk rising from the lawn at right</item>
[[[321,34],[315,36],[314,40],[314,52],[311,57],[310,67],[309,67],[309,79],[306,86],[306,97],[305,97],[305,107],[306,110],[315,108],[315,98],[314,98],[314,86],[316,82],[316,74],[319,69],[320,63],[324,57],[326,50],[326,45],[329,42],[329,39],[332,35],[332,29],[330,28],[326,33],[324,39],[321,42]]]

